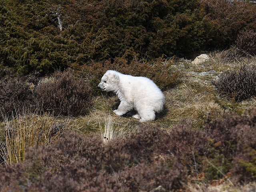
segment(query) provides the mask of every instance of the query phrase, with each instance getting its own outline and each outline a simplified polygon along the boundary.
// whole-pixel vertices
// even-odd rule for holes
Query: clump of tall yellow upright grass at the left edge
[[[3,124],[5,141],[0,144],[2,164],[23,161],[30,146],[50,144],[68,128],[65,122],[58,122],[49,114],[19,114],[12,120],[5,118]]]

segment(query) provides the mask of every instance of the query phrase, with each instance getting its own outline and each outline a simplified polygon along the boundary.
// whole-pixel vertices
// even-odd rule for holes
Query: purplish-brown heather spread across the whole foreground
[[[210,115],[203,130],[142,125],[107,144],[99,135],[69,132],[30,148],[24,163],[0,167],[0,191],[183,191],[189,180],[253,181],[255,138],[256,109]]]

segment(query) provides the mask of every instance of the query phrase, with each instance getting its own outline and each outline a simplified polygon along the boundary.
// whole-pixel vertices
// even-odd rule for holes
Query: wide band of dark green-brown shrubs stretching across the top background
[[[122,57],[154,60],[226,48],[256,25],[256,5],[226,0],[1,0],[0,65],[28,74]],[[60,15],[63,30],[58,28]]]

